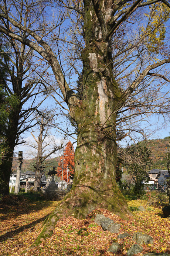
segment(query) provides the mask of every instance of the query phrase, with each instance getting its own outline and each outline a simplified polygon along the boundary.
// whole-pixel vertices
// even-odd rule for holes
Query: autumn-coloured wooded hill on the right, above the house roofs
[[[150,169],[158,168],[161,170],[167,170],[167,150],[169,149],[170,137],[164,139],[149,140],[146,145],[151,150],[151,166]]]

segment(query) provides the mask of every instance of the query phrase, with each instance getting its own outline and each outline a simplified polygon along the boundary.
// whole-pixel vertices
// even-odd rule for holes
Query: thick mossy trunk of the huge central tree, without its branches
[[[74,183],[35,244],[49,236],[56,221],[64,216],[82,219],[97,208],[108,209],[124,219],[125,214],[132,214],[115,180],[116,108],[121,93],[112,73],[110,40],[102,40],[92,4],[85,6],[85,17],[82,100],[70,106],[70,115],[78,127]]]

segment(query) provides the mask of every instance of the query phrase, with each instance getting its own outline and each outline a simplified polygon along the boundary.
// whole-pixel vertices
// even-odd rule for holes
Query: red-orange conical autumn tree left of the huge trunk
[[[74,174],[74,148],[71,141],[68,141],[64,150],[64,164],[63,164],[63,180],[67,181],[67,167],[68,167],[68,177],[70,174]],[[57,171],[59,171],[58,177],[62,176],[62,156],[58,164]],[[68,178],[69,181],[69,178]]]

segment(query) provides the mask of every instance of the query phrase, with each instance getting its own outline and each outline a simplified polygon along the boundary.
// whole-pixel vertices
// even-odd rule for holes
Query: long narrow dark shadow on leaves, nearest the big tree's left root
[[[38,219],[38,220],[35,220],[27,225],[23,225],[21,227],[19,227],[18,229],[15,229],[15,230],[11,230],[11,231],[8,231],[6,232],[5,234],[1,235],[0,236],[0,242],[4,242],[6,241],[7,239],[11,239],[13,236],[16,236],[16,234],[19,234],[20,232],[23,232],[24,229],[33,229],[33,227],[44,221],[47,217],[49,216],[49,214],[45,215],[44,217]],[[16,226],[17,227],[17,226]],[[34,230],[33,230],[34,231]]]

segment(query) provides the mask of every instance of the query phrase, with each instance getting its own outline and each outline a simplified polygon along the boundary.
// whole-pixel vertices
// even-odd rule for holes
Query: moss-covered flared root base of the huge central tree
[[[98,208],[108,209],[126,220],[128,220],[126,214],[133,215],[119,189],[114,190],[112,188],[103,193],[103,191],[96,191],[89,187],[80,189],[78,186],[75,186],[58,204],[56,209],[45,219],[43,230],[27,250],[33,249],[45,239],[52,236],[55,225],[59,219],[68,216],[73,216],[77,219],[85,219],[91,211]],[[26,253],[27,250],[23,253]]]

